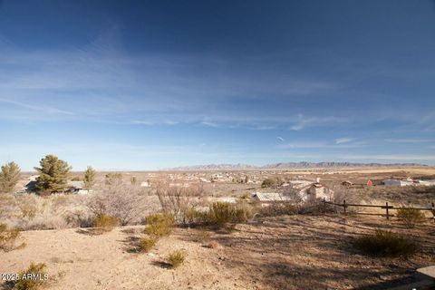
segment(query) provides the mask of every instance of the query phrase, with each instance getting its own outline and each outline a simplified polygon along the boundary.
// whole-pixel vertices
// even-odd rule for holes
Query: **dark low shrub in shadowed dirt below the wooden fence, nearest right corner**
[[[358,237],[354,246],[375,256],[411,256],[416,251],[414,242],[400,234],[377,229],[374,234]]]

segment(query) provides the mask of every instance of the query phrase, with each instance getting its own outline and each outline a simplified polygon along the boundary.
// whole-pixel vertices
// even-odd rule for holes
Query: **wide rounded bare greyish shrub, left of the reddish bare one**
[[[140,223],[147,196],[139,187],[121,180],[102,185],[87,198],[86,205],[95,216],[107,214],[119,218],[121,226]]]

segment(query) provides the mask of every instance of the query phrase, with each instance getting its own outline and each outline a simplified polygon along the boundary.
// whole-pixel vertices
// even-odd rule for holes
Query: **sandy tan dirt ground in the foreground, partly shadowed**
[[[376,227],[411,236],[419,254],[383,259],[354,250],[353,237]],[[411,282],[415,269],[435,264],[432,222],[410,230],[378,217],[257,218],[231,231],[210,230],[218,248],[204,247],[198,229],[176,228],[148,254],[136,251],[142,229],[23,232],[27,246],[0,252],[0,273],[43,262],[50,275],[44,289],[385,289]],[[171,269],[166,259],[175,249],[184,249],[187,260]]]

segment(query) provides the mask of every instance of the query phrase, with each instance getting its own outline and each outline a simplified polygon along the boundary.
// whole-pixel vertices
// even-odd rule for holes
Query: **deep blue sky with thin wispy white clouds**
[[[435,164],[432,1],[0,0],[0,162]]]

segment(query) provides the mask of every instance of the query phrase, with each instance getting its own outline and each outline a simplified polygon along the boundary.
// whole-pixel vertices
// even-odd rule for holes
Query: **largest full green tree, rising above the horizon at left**
[[[47,155],[39,161],[40,168],[35,167],[39,177],[36,179],[36,189],[44,194],[64,191],[68,187],[68,173],[72,169],[63,160],[54,155]]]

